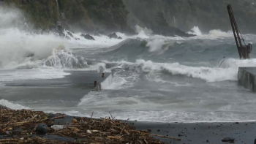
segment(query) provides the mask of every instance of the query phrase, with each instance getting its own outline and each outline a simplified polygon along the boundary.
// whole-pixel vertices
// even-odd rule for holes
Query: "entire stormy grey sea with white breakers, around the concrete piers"
[[[123,39],[93,36],[95,41],[58,37],[54,32],[35,33],[22,25],[18,10],[0,7],[0,86],[17,80],[48,80],[64,77],[64,70],[113,70],[113,84],[90,92],[79,101],[51,99],[31,101],[2,99],[0,105],[13,109],[31,108],[47,113],[158,122],[255,121],[256,97],[238,86],[238,67],[254,67],[256,58],[238,59],[230,31],[211,30],[196,37],[163,37],[136,26],[138,35]],[[67,33],[67,31],[65,31]],[[66,37],[69,37],[68,34]],[[244,34],[252,45],[256,35]],[[31,56],[33,54],[33,56]],[[224,58],[225,57],[225,58]],[[41,107],[42,103],[55,104]],[[72,103],[72,107],[69,107]]]

